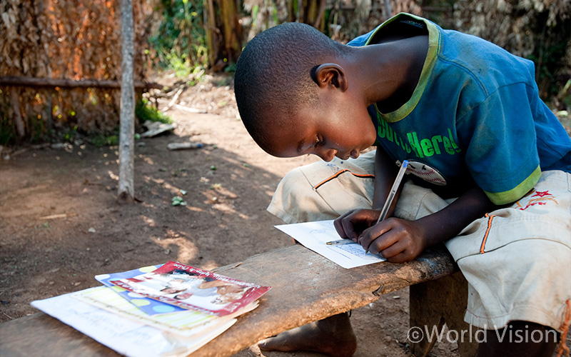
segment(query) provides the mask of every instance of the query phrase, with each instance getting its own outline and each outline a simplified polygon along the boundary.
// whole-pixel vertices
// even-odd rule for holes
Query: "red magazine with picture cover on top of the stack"
[[[218,316],[226,316],[248,306],[271,288],[176,261],[168,261],[149,273],[109,282],[163,303]]]

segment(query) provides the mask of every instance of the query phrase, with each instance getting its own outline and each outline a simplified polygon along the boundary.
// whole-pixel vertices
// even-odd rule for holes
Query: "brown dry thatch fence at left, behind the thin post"
[[[119,3],[0,0],[0,77],[121,81]],[[136,81],[145,79],[151,3],[156,0],[133,1]],[[8,86],[0,81],[0,144],[9,136],[34,139],[58,127],[112,130],[118,125],[119,100],[117,88]]]

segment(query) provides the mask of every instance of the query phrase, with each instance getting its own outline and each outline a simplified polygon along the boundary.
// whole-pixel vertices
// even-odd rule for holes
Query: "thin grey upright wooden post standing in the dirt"
[[[119,203],[134,203],[135,88],[133,85],[133,4],[121,0],[121,118],[119,132]]]

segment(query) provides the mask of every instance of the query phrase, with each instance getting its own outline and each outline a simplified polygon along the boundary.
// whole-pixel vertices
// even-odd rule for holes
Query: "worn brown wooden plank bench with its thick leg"
[[[447,322],[451,329],[468,328],[463,322],[467,283],[444,247],[425,251],[410,263],[345,269],[296,244],[216,272],[273,288],[258,308],[192,356],[232,356],[263,338],[365,306],[406,286],[410,286],[410,326],[424,329]],[[0,356],[118,356],[44,313],[1,323],[0,338]],[[423,340],[411,343],[411,348],[415,356],[426,356],[432,344]],[[475,343],[459,343],[463,357],[475,356],[475,348]]]

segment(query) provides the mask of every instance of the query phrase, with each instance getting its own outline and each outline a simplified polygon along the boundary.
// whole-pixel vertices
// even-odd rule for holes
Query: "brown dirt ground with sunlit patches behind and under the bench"
[[[35,313],[33,300],[98,286],[96,274],[168,260],[212,269],[292,244],[266,206],[283,175],[316,159],[276,159],[259,149],[238,119],[227,78],[183,91],[178,104],[208,114],[173,107],[173,133],[136,141],[134,205],[116,202],[116,146],[80,139],[0,161],[0,321]],[[166,148],[188,140],[204,147]],[[186,206],[173,206],[174,196]],[[353,311],[351,320],[355,356],[410,356],[407,289]],[[437,344],[433,356],[458,356],[456,348]],[[320,355],[252,346],[236,356]]]

